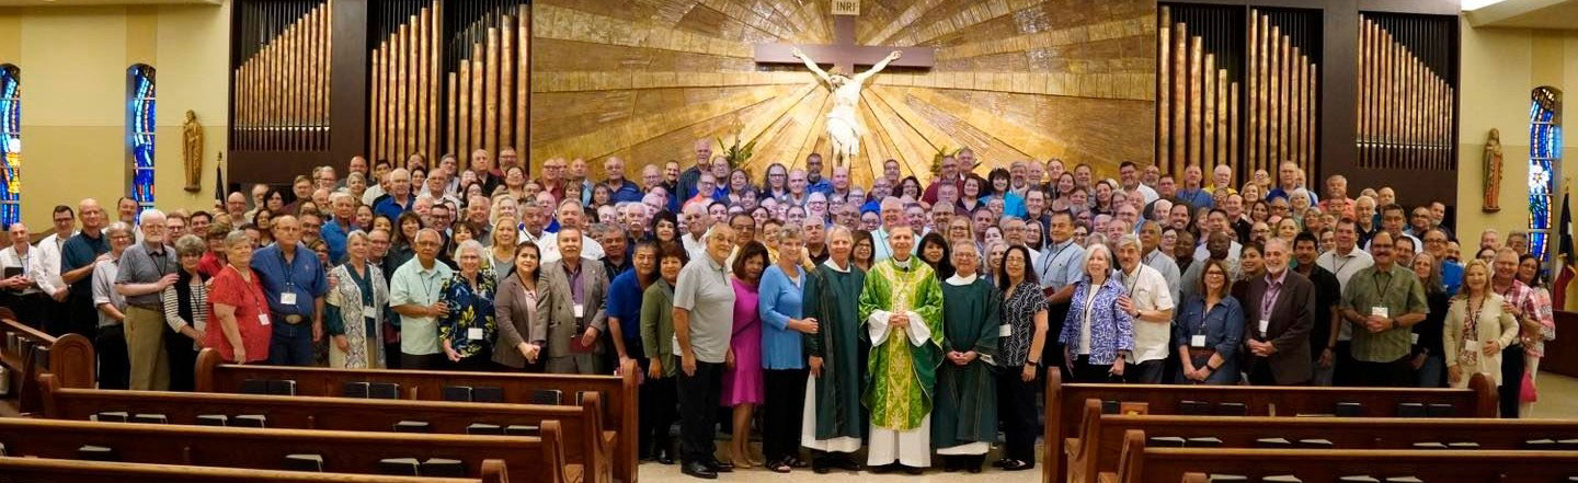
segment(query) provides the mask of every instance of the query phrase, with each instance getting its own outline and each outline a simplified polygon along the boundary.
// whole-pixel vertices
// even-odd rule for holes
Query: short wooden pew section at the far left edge
[[[65,387],[90,388],[98,371],[88,338],[74,333],[50,336],[17,322],[5,308],[0,308],[0,365],[11,374],[11,393],[21,414],[43,407],[38,374],[55,374]]]

